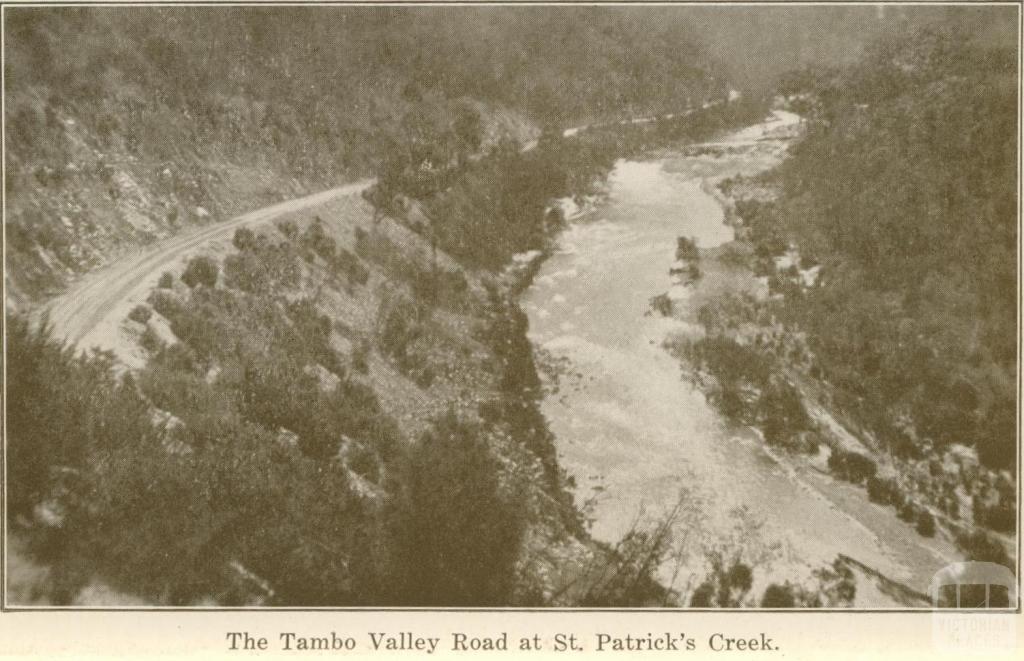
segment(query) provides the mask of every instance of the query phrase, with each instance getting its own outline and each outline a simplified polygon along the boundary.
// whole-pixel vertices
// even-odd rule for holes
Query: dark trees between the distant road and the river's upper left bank
[[[438,172],[429,185],[415,173],[395,174],[392,188],[380,186],[383,200],[375,202],[385,204],[398,191],[420,197],[430,215],[432,240],[469,266],[498,269],[516,253],[544,250],[561,227],[557,212],[546,214],[545,208],[556,197],[593,192],[616,159],[756,122],[766,107],[763,99],[752,98],[686,117],[595,127],[570,138],[548,130],[534,149],[500,144],[475,162]]]

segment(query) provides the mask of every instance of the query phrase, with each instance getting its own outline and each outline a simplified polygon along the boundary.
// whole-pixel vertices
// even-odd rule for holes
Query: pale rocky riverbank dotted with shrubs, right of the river
[[[701,251],[702,277],[691,283],[688,305],[676,310],[697,332],[678,338],[673,351],[716,406],[756,433],[766,452],[855,519],[885,512],[888,521],[869,527],[888,528],[888,538],[911,542],[895,544],[906,546],[900,555],[920,555],[914,546],[927,549],[916,572],[896,568],[900,580],[923,590],[941,563],[978,554],[1009,562],[1013,540],[977,527],[970,495],[979,482],[992,485],[1001,478],[972,477],[985,476],[964,447],[937,448],[923,457],[894,452],[891,439],[876,437],[838,403],[840,395],[822,378],[806,334],[783,320],[785,304],[813,290],[821,266],[792,245],[774,248],[770,223],[781,222],[771,215],[777,187],[771,176],[720,182],[726,222],[738,238]],[[770,251],[777,253],[771,257]],[[728,367],[739,365],[737,360],[742,366]],[[788,410],[780,394],[790,398]]]

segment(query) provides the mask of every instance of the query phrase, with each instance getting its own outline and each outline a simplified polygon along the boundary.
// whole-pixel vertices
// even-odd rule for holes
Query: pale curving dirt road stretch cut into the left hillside
[[[157,284],[161,273],[197,248],[229,238],[236,229],[264,223],[291,212],[315,207],[337,197],[356,195],[373,185],[365,179],[338,188],[257,209],[230,220],[197,228],[146,247],[141,253],[85,275],[43,310],[49,314],[53,335],[80,348],[103,349],[116,335],[128,310],[126,304]]]

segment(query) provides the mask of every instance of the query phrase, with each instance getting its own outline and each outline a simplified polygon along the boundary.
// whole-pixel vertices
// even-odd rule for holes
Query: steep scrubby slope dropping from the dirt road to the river
[[[418,588],[410,581],[417,577],[399,577],[408,567],[400,558],[375,561],[390,568],[380,570],[386,579],[378,570],[348,563],[372,555],[367,544],[380,544],[387,549],[385,555],[399,557],[411,544],[422,555],[423,544],[436,539],[436,531],[408,538],[402,535],[415,535],[415,530],[389,531],[392,524],[386,522],[412,517],[413,512],[403,508],[423,506],[420,500],[425,494],[402,505],[402,493],[410,489],[416,493],[431,474],[451,472],[445,480],[475,489],[458,496],[460,510],[470,517],[461,525],[500,524],[514,538],[478,529],[474,534],[500,545],[489,548],[486,559],[461,564],[471,569],[474,562],[482,562],[489,571],[485,579],[469,585],[469,591],[450,587],[450,597],[504,603],[550,596],[554,589],[550,580],[541,582],[538,572],[564,571],[564,562],[555,566],[544,559],[575,555],[582,564],[592,552],[573,541],[579,523],[570,499],[561,491],[560,476],[551,473],[553,465],[546,460],[551,455],[545,449],[547,431],[543,421],[530,420],[530,395],[509,366],[514,363],[515,369],[528,370],[529,355],[528,345],[515,342],[515,311],[502,294],[507,284],[464,271],[392,219],[375,221],[373,209],[358,196],[285,216],[273,225],[256,227],[256,232],[241,229],[233,244],[202,247],[184,268],[168,271],[147,297],[150,303],[120,320],[120,337],[113,348],[129,355],[136,352],[142,358],[137,364],[144,365],[128,378],[128,383],[137,384],[137,395],[132,394],[134,385],[94,385],[88,389],[91,394],[80,391],[96,402],[106,388],[112,389],[115,401],[110,406],[94,404],[99,415],[95,422],[108,428],[104,441],[80,431],[74,447],[67,445],[60,438],[70,428],[62,421],[82,430],[91,426],[73,423],[75,408],[57,405],[51,418],[52,443],[37,434],[32,447],[12,445],[11,485],[19,494],[12,514],[23,522],[25,517],[49,521],[49,527],[37,523],[27,529],[34,530],[28,533],[29,553],[59,570],[55,579],[51,576],[56,583],[48,588],[49,599],[75,600],[78,589],[96,576],[157,603],[444,599],[443,591],[415,597]],[[203,275],[193,279],[199,264],[215,265],[216,279]],[[32,368],[25,364],[33,354],[46,360],[46,352],[27,351],[28,336],[16,319],[14,325],[12,373],[20,377],[9,404],[16,409],[10,427],[20,438],[27,433],[24,425],[33,425],[33,411],[47,402],[52,405],[53,398],[32,386],[28,376]],[[512,347],[526,354],[510,353]],[[136,397],[140,399],[134,404],[127,403]],[[111,406],[128,408],[114,413]],[[135,420],[141,427],[134,433],[115,429],[103,422],[111,415]],[[156,422],[152,428],[144,422],[151,416]],[[417,452],[430,451],[416,448],[431,448],[431,438],[443,447],[444,439],[462,438],[458,434],[467,430],[473,430],[471,440],[457,442],[461,458],[450,457],[443,464],[435,464],[437,457],[417,458]],[[410,446],[413,439],[420,442]],[[288,476],[271,478],[283,480],[279,486],[290,491],[287,496],[274,496],[276,487],[265,481],[263,472],[273,476],[276,469],[264,466],[253,474],[239,472],[243,468],[239,461],[261,460],[249,457],[250,451],[257,456],[270,452],[268,460],[292,467]],[[478,464],[466,466],[462,453],[473,451],[484,454]],[[124,461],[127,454],[134,457],[130,464]],[[104,455],[119,458],[108,464],[99,458]],[[428,462],[417,469],[410,466],[423,460]],[[492,460],[498,462],[492,466]],[[34,467],[53,465],[74,471],[78,480],[52,482],[33,473]],[[119,466],[129,472],[121,474]],[[183,482],[173,477],[178,470],[184,471]],[[325,470],[328,473],[322,474]],[[216,477],[207,471],[227,473]],[[189,474],[197,479],[207,475],[204,480],[211,481],[195,484]],[[316,475],[323,477],[314,479]],[[138,479],[164,486],[157,494],[143,495],[132,486]],[[47,483],[53,490],[40,493]],[[180,500],[170,497],[174,489],[189,494],[189,511],[205,510],[212,519],[205,515],[188,523],[179,520]],[[239,489],[251,490],[264,504],[256,510],[240,508],[242,502],[231,495]],[[33,512],[40,496],[43,504]],[[307,496],[325,498],[323,516],[364,532],[355,537],[339,535],[333,524],[323,527],[326,520],[308,504],[299,518],[286,512],[280,520],[270,515],[275,508],[291,508]],[[117,500],[124,500],[125,506],[115,505]],[[499,516],[513,501],[518,526],[508,515]],[[476,506],[496,510],[473,514]],[[429,520],[438,523],[458,517],[458,512],[435,511]],[[265,556],[266,542],[257,543],[245,532],[249,526],[242,522],[250,517],[252,526],[274,536],[274,543],[284,544],[281,552],[301,564]],[[115,518],[123,534],[109,526]],[[157,525],[161,520],[179,523],[165,528]],[[374,532],[381,526],[381,532]],[[83,527],[97,533],[83,534]],[[459,543],[471,553],[473,544],[466,533],[462,529],[445,543],[462,539]],[[53,546],[55,538],[63,542]],[[219,540],[216,552],[204,541],[210,538]],[[177,549],[176,568],[161,560],[164,555],[159,549],[167,547]],[[79,564],[98,549],[108,560]],[[490,559],[499,553],[506,554],[510,563],[504,571]],[[311,556],[300,561],[295,554]],[[452,567],[435,569],[447,572]],[[329,572],[333,580],[325,584],[316,572]],[[521,575],[516,577],[517,573]],[[393,584],[383,589],[378,581]]]

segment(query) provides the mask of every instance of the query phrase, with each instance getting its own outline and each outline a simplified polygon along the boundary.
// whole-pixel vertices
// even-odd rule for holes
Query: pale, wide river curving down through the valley
[[[606,200],[570,223],[523,295],[542,363],[561,365],[545,377],[543,410],[596,538],[614,541],[681,503],[678,553],[660,578],[684,593],[709,548],[741,553],[755,590],[807,582],[845,554],[924,591],[954,559],[948,541],[918,536],[861,489],[730,426],[662,346],[685,321],[648,314],[653,296],[685,297],[669,275],[677,236],[700,248],[733,238],[714,182],[779,163],[797,121],[776,112],[709,144],[712,153],[615,165]],[[895,605],[860,585],[855,604]]]

